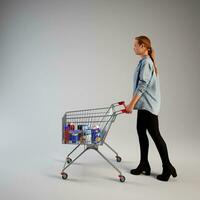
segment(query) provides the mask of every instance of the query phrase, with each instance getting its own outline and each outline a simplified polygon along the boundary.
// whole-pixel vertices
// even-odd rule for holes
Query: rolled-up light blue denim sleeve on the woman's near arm
[[[146,91],[149,81],[151,79],[151,74],[153,70],[151,65],[147,61],[142,63],[140,67],[141,69],[138,75],[139,76],[138,84],[134,92],[134,95],[138,95],[138,96],[141,96]]]

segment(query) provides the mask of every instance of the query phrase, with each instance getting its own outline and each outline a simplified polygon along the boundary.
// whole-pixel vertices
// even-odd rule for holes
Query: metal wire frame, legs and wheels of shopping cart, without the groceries
[[[121,106],[123,106],[123,109]],[[84,143],[76,144],[77,146],[67,155],[67,157],[65,159],[65,163],[64,163],[63,169],[61,171],[61,175],[62,175],[63,179],[68,178],[68,174],[65,173],[65,170],[69,166],[71,166],[86,151],[93,149],[119,173],[118,177],[119,177],[120,182],[125,181],[125,177],[122,175],[121,171],[99,151],[99,146],[102,146],[103,144],[105,144],[115,154],[116,161],[121,162],[122,158],[118,155],[118,153],[110,145],[108,145],[105,142],[105,139],[106,139],[106,136],[111,128],[112,123],[115,121],[116,117],[119,114],[126,113],[125,108],[126,108],[125,102],[120,101],[120,102],[111,104],[109,107],[65,112],[65,114],[62,118],[62,142],[64,140],[65,125],[67,123],[75,123],[76,125],[85,124],[85,125],[89,125],[89,126],[98,124],[104,134],[101,139],[101,142],[99,142],[99,143],[87,144],[84,142]],[[84,146],[84,150],[81,153],[79,153],[78,156],[76,156],[72,160],[70,158],[70,155],[73,152],[75,152],[81,145]]]

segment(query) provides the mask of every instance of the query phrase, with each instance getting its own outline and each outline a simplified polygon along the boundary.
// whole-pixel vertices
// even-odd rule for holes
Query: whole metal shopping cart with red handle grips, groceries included
[[[75,144],[77,146],[66,157],[61,172],[63,179],[68,178],[68,174],[65,173],[65,170],[87,150],[93,149],[119,173],[119,180],[121,182],[125,181],[125,177],[122,175],[121,171],[98,149],[100,145],[105,144],[116,155],[116,161],[121,162],[121,157],[105,142],[105,139],[111,124],[115,121],[117,115],[122,113],[126,113],[124,101],[113,103],[110,107],[69,111],[64,114],[62,118],[62,143]],[[80,145],[84,145],[84,150],[72,160],[70,155],[78,149]]]

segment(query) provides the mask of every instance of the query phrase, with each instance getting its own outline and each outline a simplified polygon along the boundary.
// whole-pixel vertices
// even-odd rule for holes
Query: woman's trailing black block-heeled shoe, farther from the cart
[[[157,176],[157,179],[160,181],[168,181],[171,175],[174,178],[177,177],[176,169],[172,165],[163,166],[163,172]]]

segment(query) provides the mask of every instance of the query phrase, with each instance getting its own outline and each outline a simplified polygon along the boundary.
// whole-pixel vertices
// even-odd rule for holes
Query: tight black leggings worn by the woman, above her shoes
[[[158,116],[147,110],[138,110],[137,116],[137,132],[140,143],[141,160],[140,163],[148,162],[149,140],[146,131],[151,135],[158,152],[160,154],[162,164],[164,166],[170,164],[167,145],[160,135]]]

